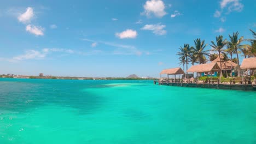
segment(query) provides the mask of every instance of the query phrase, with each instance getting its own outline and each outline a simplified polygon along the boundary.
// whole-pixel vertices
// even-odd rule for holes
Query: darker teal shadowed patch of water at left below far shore
[[[70,81],[1,81],[0,109],[26,112],[36,107],[56,104],[89,113],[101,107],[106,99],[81,89],[89,88],[88,82]]]

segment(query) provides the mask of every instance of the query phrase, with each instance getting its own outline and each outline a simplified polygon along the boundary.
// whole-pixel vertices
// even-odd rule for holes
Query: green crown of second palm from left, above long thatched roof
[[[205,44],[205,40],[195,39],[194,40],[195,47],[191,47],[193,51],[193,55],[196,57],[199,64],[206,63],[205,55],[209,56],[208,50],[205,50],[207,44]]]

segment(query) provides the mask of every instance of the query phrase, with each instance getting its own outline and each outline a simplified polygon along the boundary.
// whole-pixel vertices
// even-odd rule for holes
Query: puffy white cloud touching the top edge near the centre
[[[165,4],[161,0],[150,0],[144,4],[144,12],[142,13],[148,17],[154,15],[156,17],[163,17],[167,13],[165,11]]]

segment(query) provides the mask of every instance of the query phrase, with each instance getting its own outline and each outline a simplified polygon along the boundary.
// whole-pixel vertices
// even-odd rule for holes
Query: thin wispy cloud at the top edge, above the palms
[[[240,3],[240,0],[222,0],[220,2],[220,8],[224,9],[226,7],[228,7],[229,12],[243,10],[243,4]]]

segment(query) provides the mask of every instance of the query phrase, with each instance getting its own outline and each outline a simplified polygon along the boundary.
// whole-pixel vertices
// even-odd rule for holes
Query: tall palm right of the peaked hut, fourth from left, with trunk
[[[236,53],[236,58],[237,58],[237,66],[238,66],[238,76],[240,76],[240,63],[239,63],[239,57],[238,57],[238,51],[242,50],[243,48],[241,47],[241,43],[243,41],[243,37],[240,37],[238,39],[238,32],[233,33],[233,35],[229,34],[229,38],[230,38],[230,43],[231,43],[231,47],[232,49],[234,49],[235,53]]]

